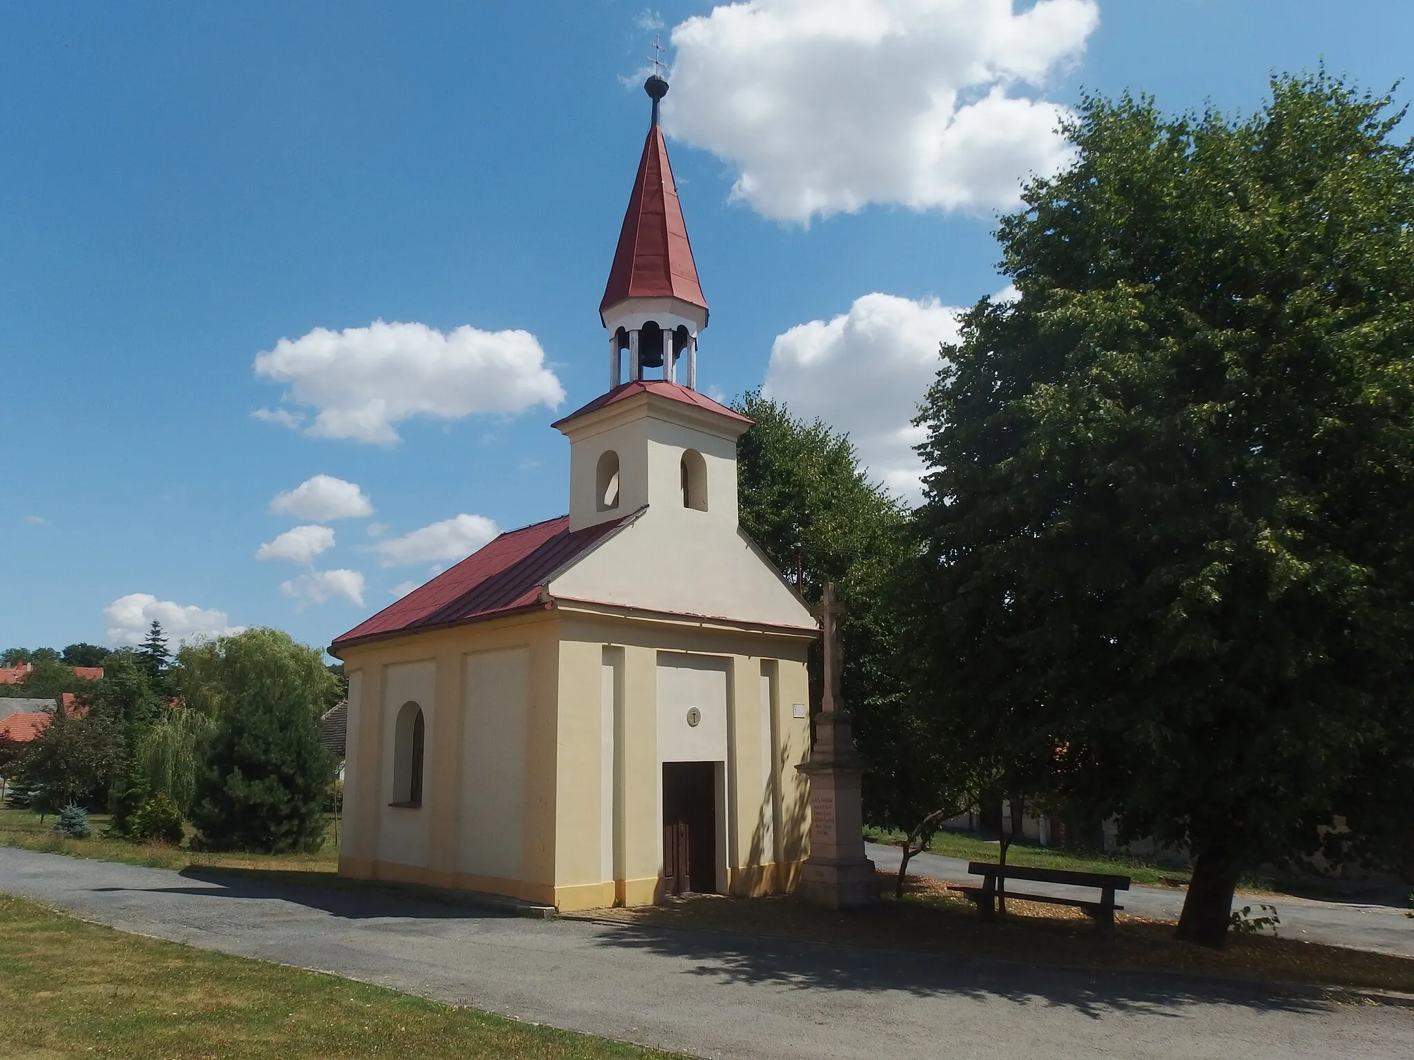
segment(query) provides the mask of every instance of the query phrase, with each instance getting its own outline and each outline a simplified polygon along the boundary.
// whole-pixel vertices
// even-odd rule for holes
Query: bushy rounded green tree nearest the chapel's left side
[[[318,650],[276,629],[182,649],[189,709],[216,715],[197,776],[192,824],[215,849],[312,851],[334,760],[320,714],[335,678]]]

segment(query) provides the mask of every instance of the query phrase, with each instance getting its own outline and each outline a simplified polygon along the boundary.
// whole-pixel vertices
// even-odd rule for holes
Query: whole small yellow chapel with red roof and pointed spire
[[[561,910],[795,888],[819,628],[737,514],[751,421],[652,120],[600,321],[608,389],[553,424],[568,514],[501,534],[329,647],[349,678],[339,872]],[[679,382],[682,380],[682,382]]]

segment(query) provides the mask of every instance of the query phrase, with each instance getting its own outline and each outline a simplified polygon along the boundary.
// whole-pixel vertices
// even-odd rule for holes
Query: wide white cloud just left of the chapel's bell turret
[[[396,442],[397,424],[413,416],[457,420],[564,400],[534,335],[468,325],[315,328],[256,355],[256,375],[288,384],[286,400],[318,410],[305,434],[383,444]]]

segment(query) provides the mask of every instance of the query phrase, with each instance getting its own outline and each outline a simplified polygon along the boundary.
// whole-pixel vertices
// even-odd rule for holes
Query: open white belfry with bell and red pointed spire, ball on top
[[[600,301],[600,321],[609,332],[609,390],[643,379],[677,383],[680,367],[682,382],[696,390],[697,335],[707,326],[707,300],[658,124],[667,82],[653,73],[643,90],[653,100],[653,114]]]

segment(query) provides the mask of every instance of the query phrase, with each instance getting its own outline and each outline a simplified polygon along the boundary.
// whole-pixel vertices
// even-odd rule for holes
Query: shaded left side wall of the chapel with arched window
[[[556,625],[536,612],[345,649],[341,875],[554,900]],[[409,698],[424,711],[423,804],[389,807]]]

